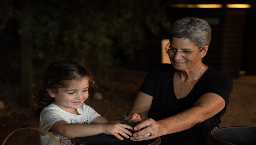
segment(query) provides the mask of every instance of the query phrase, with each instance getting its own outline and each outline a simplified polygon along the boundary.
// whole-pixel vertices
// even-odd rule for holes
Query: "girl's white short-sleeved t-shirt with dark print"
[[[39,128],[49,131],[53,123],[65,120],[68,123],[90,124],[96,117],[100,116],[94,109],[82,103],[77,109],[80,115],[66,112],[55,104],[45,107],[40,114]],[[62,145],[72,145],[71,139],[63,137],[56,132],[48,132],[52,134]],[[57,145],[57,143],[47,134],[40,133],[41,145]]]

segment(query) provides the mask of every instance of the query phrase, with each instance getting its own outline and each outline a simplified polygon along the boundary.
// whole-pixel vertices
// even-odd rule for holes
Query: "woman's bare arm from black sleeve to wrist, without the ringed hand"
[[[213,117],[225,107],[224,99],[214,93],[206,93],[193,107],[174,116],[159,120],[164,134],[187,130],[199,122]]]

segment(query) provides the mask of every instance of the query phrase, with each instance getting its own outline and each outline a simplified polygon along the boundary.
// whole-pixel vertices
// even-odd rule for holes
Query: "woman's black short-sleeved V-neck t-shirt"
[[[219,127],[221,116],[225,113],[232,92],[233,82],[225,75],[209,67],[184,98],[177,99],[174,93],[173,76],[175,69],[171,64],[159,64],[149,72],[139,91],[153,96],[148,113],[149,118],[158,121],[189,109],[205,93],[215,93],[225,100],[225,107],[213,117],[195,124],[193,127],[161,136],[161,145],[208,145],[212,144],[209,133]]]

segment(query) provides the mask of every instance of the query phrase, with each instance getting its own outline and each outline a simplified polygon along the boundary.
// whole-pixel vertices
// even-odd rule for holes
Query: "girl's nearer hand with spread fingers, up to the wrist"
[[[125,128],[128,128],[130,130],[133,130],[131,126],[120,124],[120,123],[114,123],[114,124],[104,124],[102,127],[102,131],[104,134],[112,134],[118,139],[124,140],[119,134],[129,139],[130,136],[132,136],[132,133],[130,131],[126,130]],[[127,135],[128,134],[128,135]]]

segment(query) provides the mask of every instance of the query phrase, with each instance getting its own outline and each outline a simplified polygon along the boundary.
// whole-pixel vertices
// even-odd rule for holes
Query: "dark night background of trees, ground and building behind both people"
[[[241,3],[251,7],[226,7]],[[203,63],[234,81],[220,127],[256,127],[254,0],[1,0],[0,143],[16,129],[39,127],[29,102],[52,61],[89,66],[97,87],[85,104],[107,119],[124,118],[151,66],[162,62],[162,39],[184,17],[209,22]],[[6,144],[17,143],[40,144],[38,131],[17,131]]]

